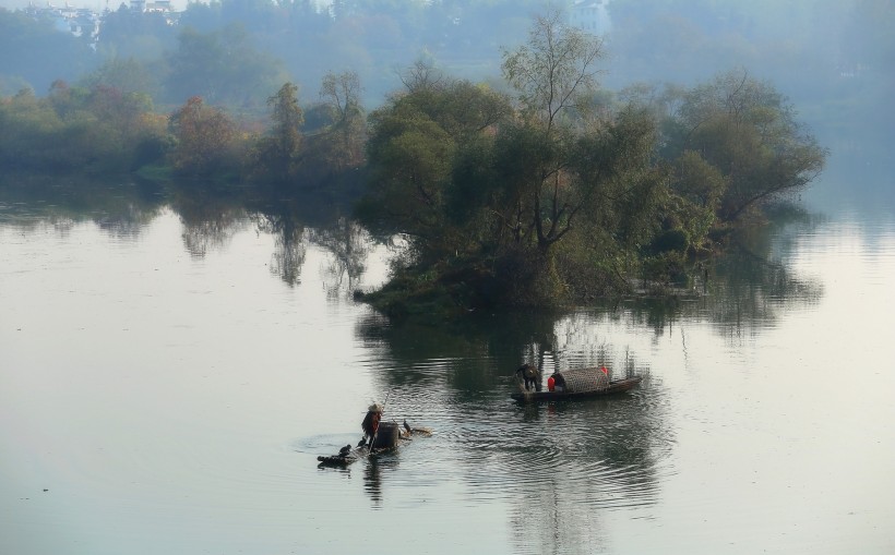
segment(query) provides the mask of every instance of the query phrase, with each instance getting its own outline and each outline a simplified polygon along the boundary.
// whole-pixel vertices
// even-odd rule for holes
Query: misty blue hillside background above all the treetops
[[[856,126],[870,144],[890,143],[895,123],[895,0],[224,0],[155,11],[87,1],[62,3],[68,15],[46,3],[0,5],[3,96],[43,96],[62,80],[148,93],[163,112],[199,95],[251,114],[287,81],[313,102],[326,72],[355,71],[372,109],[419,60],[502,87],[502,49],[559,8],[605,38],[607,97],[743,69],[789,96],[834,150],[867,146],[845,137]]]

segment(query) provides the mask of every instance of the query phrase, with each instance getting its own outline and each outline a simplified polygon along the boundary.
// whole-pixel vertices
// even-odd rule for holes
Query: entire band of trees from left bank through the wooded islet
[[[407,245],[370,298],[391,314],[667,287],[732,222],[821,170],[826,153],[793,107],[749,72],[611,93],[597,80],[604,57],[601,39],[554,12],[503,50],[501,79],[457,79],[421,59],[369,117],[350,71],[326,73],[303,105],[287,81],[251,116],[202,95],[160,114],[145,93],[58,81],[43,98],[0,99],[0,164],[168,168],[279,191],[362,177],[358,216]]]

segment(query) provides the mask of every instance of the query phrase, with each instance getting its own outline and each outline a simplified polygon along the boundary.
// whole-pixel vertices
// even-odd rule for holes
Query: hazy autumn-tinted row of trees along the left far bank
[[[264,119],[246,119],[201,96],[164,114],[145,93],[57,81],[43,98],[31,89],[0,97],[0,167],[88,174],[154,168],[188,178],[313,186],[362,162],[360,91],[356,74],[329,74],[319,100],[302,107],[297,85],[286,83],[267,99]]]

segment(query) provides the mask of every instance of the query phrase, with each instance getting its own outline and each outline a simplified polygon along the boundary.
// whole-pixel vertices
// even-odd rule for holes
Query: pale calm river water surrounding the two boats
[[[351,300],[382,249],[0,208],[2,554],[895,552],[891,216],[670,309],[420,328]],[[525,407],[525,360],[645,379]],[[433,435],[318,468],[373,399]]]

